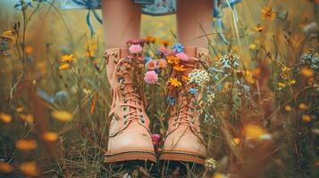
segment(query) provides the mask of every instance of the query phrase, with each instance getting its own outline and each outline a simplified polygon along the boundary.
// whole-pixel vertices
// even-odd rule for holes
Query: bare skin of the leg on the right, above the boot
[[[177,34],[181,44],[207,48],[205,34],[212,32],[212,20],[213,0],[177,0]]]

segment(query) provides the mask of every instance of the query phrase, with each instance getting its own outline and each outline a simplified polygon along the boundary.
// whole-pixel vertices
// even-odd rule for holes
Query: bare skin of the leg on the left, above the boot
[[[126,46],[139,38],[141,5],[132,0],[102,0],[106,49]]]

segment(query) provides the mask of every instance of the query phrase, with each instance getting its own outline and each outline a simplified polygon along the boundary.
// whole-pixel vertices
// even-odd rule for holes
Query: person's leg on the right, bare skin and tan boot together
[[[184,53],[190,57],[188,61],[180,61],[185,69],[180,73],[181,76],[188,77],[189,72],[199,68],[200,63],[194,58],[210,61],[205,34],[212,31],[212,18],[213,0],[177,0],[178,41],[185,46]],[[176,104],[172,106],[160,160],[205,164],[207,150],[200,133],[199,111],[194,104],[198,102],[199,93],[191,94],[189,91],[192,87],[183,85]],[[169,88],[175,90],[172,85]]]

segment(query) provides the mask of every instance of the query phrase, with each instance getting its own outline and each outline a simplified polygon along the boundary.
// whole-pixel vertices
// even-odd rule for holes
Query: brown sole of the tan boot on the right
[[[196,153],[187,153],[181,151],[165,151],[160,155],[160,161],[186,161],[205,165],[206,158],[198,156]]]

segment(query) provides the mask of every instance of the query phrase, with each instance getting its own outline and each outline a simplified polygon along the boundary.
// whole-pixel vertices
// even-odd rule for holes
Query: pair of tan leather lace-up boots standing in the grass
[[[193,69],[199,68],[199,61],[208,60],[206,49],[185,47],[184,53],[189,60],[183,61],[188,76]],[[112,118],[109,128],[108,148],[105,162],[113,163],[127,160],[187,161],[205,164],[206,146],[199,128],[199,112],[195,106],[196,94],[189,93],[191,86],[182,87],[177,102],[172,105],[168,118],[167,134],[164,147],[155,153],[149,130],[150,120],[145,111],[145,104],[133,87],[130,72],[132,65],[128,48],[114,48],[105,52],[107,77],[113,92],[110,111]],[[174,71],[172,72],[172,75]],[[168,88],[172,89],[172,86]]]

